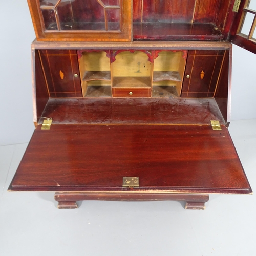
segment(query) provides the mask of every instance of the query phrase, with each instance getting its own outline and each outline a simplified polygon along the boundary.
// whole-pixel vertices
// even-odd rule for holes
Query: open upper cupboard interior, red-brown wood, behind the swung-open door
[[[136,40],[223,40],[230,1],[133,0]]]

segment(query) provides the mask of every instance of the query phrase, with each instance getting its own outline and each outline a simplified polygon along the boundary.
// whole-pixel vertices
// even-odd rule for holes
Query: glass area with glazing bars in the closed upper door
[[[120,0],[39,0],[39,3],[46,30],[120,31]]]

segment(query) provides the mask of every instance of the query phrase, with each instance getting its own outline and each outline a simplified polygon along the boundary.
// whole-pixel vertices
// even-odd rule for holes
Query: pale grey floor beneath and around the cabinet
[[[256,119],[229,131],[255,189]],[[254,195],[210,195],[205,211],[174,201],[59,210],[53,193],[7,192],[26,146],[0,146],[0,255],[256,255]]]

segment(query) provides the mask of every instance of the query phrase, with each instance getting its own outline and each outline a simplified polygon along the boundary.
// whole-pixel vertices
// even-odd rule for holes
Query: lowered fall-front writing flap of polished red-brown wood
[[[136,190],[250,193],[228,130],[210,125],[37,127],[11,190]]]

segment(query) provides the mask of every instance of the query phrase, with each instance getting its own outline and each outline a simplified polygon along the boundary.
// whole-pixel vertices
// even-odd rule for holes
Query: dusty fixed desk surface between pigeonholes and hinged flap
[[[50,98],[42,116],[53,124],[225,124],[211,98]]]

